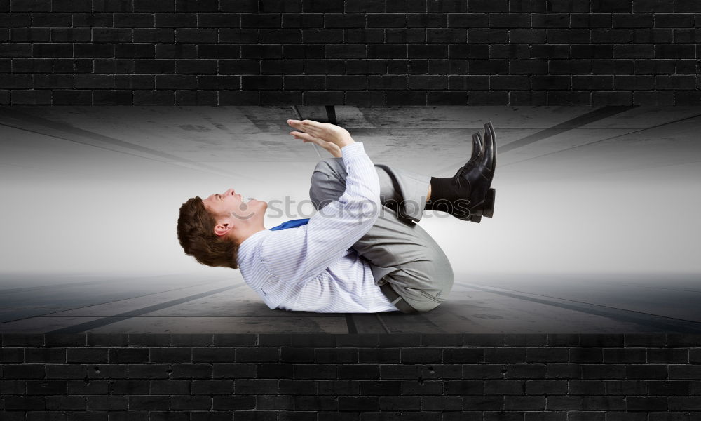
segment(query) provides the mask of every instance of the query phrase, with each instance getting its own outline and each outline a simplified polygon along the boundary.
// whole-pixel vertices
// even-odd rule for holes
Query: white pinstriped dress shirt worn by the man
[[[271,309],[319,313],[397,311],[351,248],[380,213],[380,183],[362,142],[341,149],[346,192],[306,225],[248,237],[238,248],[243,280]]]

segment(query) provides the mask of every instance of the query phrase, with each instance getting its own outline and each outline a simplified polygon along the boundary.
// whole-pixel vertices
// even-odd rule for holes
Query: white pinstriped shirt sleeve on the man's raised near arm
[[[381,210],[380,182],[362,142],[341,148],[346,166],[346,191],[338,201],[315,213],[306,229],[285,229],[261,247],[271,274],[286,282],[317,276],[348,253],[348,248],[374,225]]]

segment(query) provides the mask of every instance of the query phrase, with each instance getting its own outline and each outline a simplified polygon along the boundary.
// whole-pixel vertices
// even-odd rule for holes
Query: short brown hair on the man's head
[[[177,239],[186,255],[194,256],[203,265],[238,269],[238,245],[214,233],[217,221],[205,208],[199,196],[180,206]]]

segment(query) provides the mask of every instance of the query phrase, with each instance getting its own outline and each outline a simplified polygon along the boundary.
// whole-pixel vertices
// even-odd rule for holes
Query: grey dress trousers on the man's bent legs
[[[375,168],[383,207],[353,249],[369,262],[378,286],[389,283],[412,309],[427,312],[440,305],[453,287],[448,258],[414,223],[423,216],[430,176],[382,164],[375,164]],[[346,191],[346,175],[342,158],[323,159],[316,165],[309,189],[316,210],[341,197]]]

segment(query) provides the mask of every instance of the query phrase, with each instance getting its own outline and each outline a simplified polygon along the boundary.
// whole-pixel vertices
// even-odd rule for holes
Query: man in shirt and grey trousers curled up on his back
[[[180,208],[177,235],[203,265],[240,269],[271,309],[305,312],[427,312],[453,286],[443,250],[417,223],[441,210],[480,222],[494,213],[491,122],[472,135],[472,156],[451,178],[374,165],[346,129],[288,120],[294,138],[334,157],[320,161],[309,196],[318,212],[266,229],[264,201],[233,189],[194,197]]]

